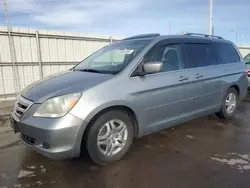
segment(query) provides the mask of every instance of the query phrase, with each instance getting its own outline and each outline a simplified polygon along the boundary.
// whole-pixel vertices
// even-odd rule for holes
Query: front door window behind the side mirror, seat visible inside
[[[155,46],[145,56],[143,62],[161,61],[162,72],[184,68],[180,44]]]

